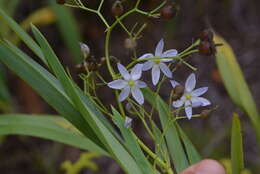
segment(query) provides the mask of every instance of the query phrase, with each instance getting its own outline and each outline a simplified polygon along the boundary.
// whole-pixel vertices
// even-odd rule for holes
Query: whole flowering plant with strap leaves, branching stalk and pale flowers
[[[96,152],[112,158],[129,174],[180,173],[200,161],[198,151],[178,121],[205,117],[216,109],[203,97],[208,87],[200,87],[196,67],[187,62],[187,58],[196,53],[215,53],[213,33],[205,31],[184,50],[165,49],[167,45],[164,38],[161,38],[153,44],[154,48],[147,52],[137,52],[137,40],[142,35],[145,37],[147,24],[137,23],[128,28],[124,25],[124,20],[132,14],[170,19],[177,13],[175,5],[162,1],[154,9],[143,11],[140,0],[137,0],[131,9],[125,11],[124,2],[115,1],[111,7],[115,18],[110,23],[102,14],[104,0],[99,2],[96,9],[88,7],[88,1],[57,2],[64,7],[97,15],[105,26],[104,58],[100,61],[93,60],[90,56],[91,48],[79,41],[77,46],[84,58],[78,65],[83,69],[79,75],[84,84],[81,88],[72,79],[69,70],[62,66],[39,29],[31,24],[32,38],[0,10],[1,22],[17,34],[41,63],[5,38],[0,40],[0,61],[26,81],[60,115],[2,116],[0,134],[36,136]],[[128,58],[128,64],[120,63],[120,59],[110,52],[113,47],[111,33],[116,27],[122,28],[128,35],[125,46],[133,53]],[[100,66],[107,67],[109,79],[97,71]],[[182,67],[188,67],[190,75],[186,80],[177,82],[175,72]],[[151,74],[148,80],[142,77],[144,71]],[[164,99],[160,97],[163,83],[172,87]],[[100,86],[114,93],[113,103],[116,104],[107,106],[107,102],[104,103],[99,98],[97,89]],[[200,113],[193,112],[193,108],[205,106],[208,107]],[[137,121],[144,126],[152,145],[145,144],[132,129]]]

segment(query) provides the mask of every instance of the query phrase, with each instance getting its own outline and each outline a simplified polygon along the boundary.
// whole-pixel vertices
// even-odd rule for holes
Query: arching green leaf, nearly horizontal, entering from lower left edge
[[[45,138],[109,156],[106,151],[93,141],[73,133],[69,127],[67,129],[62,128],[58,124],[59,122],[65,122],[65,120],[57,119],[54,116],[0,115],[0,135],[19,134]]]

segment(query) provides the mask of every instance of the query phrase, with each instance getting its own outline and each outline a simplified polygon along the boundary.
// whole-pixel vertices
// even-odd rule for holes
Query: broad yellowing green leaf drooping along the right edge
[[[250,117],[260,147],[259,113],[240,66],[236,60],[235,54],[231,46],[219,35],[215,34],[214,40],[216,43],[223,44],[223,46],[217,47],[216,61],[224,85],[233,102],[243,109]]]

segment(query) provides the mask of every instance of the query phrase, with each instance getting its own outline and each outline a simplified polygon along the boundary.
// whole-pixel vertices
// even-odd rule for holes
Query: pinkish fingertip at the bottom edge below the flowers
[[[188,167],[181,174],[226,174],[226,172],[219,162],[205,159]]]

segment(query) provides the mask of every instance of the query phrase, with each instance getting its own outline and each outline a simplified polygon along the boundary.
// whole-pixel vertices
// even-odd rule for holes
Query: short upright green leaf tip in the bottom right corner
[[[240,120],[237,114],[233,115],[231,135],[231,165],[232,174],[239,174],[244,169],[243,138]]]

